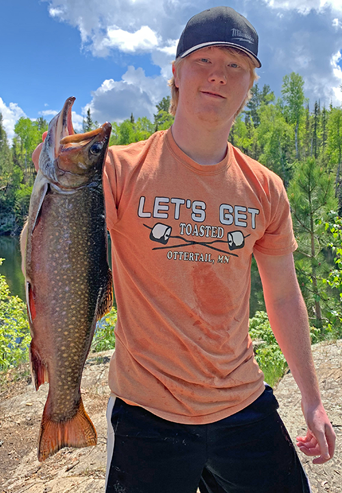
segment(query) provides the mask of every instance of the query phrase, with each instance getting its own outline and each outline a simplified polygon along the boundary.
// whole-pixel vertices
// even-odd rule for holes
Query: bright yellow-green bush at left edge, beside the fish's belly
[[[0,259],[0,265],[2,262]],[[30,340],[25,303],[10,295],[5,277],[0,275],[0,370],[27,362]]]

